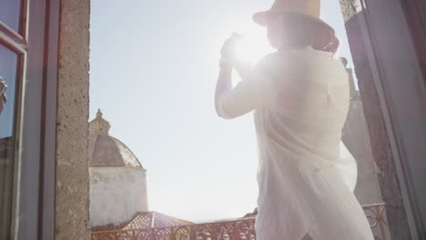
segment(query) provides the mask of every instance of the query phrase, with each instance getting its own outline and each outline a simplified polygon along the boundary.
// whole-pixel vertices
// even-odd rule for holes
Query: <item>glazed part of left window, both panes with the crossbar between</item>
[[[0,2],[0,77],[5,80],[7,102],[0,113],[0,239],[9,239],[13,222],[14,179],[17,163],[18,113],[23,96],[25,32],[21,13],[25,2]]]

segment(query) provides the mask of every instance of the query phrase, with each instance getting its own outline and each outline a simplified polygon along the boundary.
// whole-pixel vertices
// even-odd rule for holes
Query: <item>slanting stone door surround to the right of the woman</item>
[[[369,55],[372,46],[365,18],[368,12],[362,10],[360,0],[340,0],[340,5],[355,73],[359,80],[360,99],[370,134],[371,150],[378,166],[380,191],[386,203],[391,236],[392,239],[411,239],[391,143],[382,114],[383,109],[371,70]],[[380,35],[380,33],[374,34]]]

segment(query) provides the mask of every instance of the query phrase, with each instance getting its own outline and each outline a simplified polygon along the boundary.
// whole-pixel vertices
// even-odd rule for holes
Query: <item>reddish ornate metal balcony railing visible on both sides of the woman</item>
[[[385,205],[362,206],[373,232],[386,240]],[[194,225],[92,232],[92,240],[256,240],[255,217]]]

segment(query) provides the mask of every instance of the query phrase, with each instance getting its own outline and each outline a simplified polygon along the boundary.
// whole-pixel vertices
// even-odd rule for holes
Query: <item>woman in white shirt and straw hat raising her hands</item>
[[[356,180],[348,181],[342,167],[348,74],[334,57],[339,46],[334,30],[319,16],[320,0],[277,0],[254,15],[256,23],[267,25],[277,52],[249,71],[239,69],[233,57],[235,37],[222,47],[218,115],[228,119],[255,110],[258,240],[299,240],[306,234],[313,240],[373,239],[352,194]],[[233,66],[243,72],[235,88]]]

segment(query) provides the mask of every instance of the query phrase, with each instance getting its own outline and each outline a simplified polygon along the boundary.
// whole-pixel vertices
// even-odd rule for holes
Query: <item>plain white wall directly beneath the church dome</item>
[[[145,170],[134,167],[89,167],[90,225],[118,225],[147,211]]]

